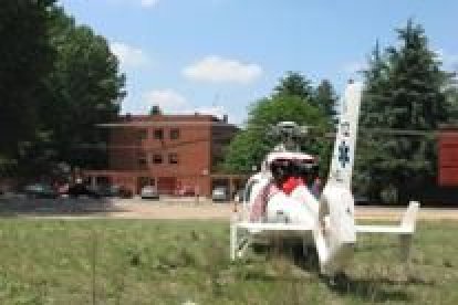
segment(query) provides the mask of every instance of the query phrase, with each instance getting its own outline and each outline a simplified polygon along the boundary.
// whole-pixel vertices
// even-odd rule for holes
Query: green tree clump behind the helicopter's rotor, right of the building
[[[246,129],[240,132],[227,148],[222,169],[229,172],[251,172],[259,169],[262,159],[278,143],[269,137],[272,126],[282,120],[326,129],[332,124],[335,94],[329,81],[314,91],[303,75],[287,72],[270,97],[257,101],[249,107]],[[331,146],[320,139],[306,139],[301,149],[319,156],[321,173],[327,170]]]

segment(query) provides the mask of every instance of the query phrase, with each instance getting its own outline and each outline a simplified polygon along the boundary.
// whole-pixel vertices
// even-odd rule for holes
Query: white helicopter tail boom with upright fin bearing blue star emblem
[[[356,147],[362,84],[350,83],[342,99],[330,176],[320,199],[314,239],[321,271],[341,271],[352,257],[356,242],[354,198],[351,189]]]

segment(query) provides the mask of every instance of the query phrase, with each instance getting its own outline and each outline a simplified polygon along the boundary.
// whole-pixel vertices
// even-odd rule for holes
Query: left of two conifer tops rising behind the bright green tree
[[[273,90],[277,95],[299,96],[304,101],[311,102],[313,88],[311,82],[301,73],[289,71],[280,78],[280,83]]]

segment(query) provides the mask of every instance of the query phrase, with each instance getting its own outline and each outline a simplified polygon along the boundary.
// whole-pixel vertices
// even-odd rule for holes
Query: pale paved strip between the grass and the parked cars
[[[0,215],[58,219],[197,219],[229,220],[235,202],[205,198],[27,199],[1,198]],[[357,220],[399,220],[403,207],[356,207]],[[458,220],[458,208],[420,208],[420,220]]]

